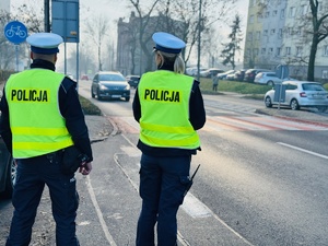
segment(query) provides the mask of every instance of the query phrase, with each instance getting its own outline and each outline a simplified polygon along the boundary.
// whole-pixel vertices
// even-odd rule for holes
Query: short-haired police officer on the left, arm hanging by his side
[[[17,168],[12,203],[14,213],[7,246],[27,246],[45,185],[49,188],[57,246],[77,246],[79,196],[74,173],[60,169],[66,148],[75,145],[86,159],[83,175],[92,169],[92,149],[77,83],[55,72],[62,38],[54,33],[27,37],[31,69],[7,81],[0,104],[0,133]]]

